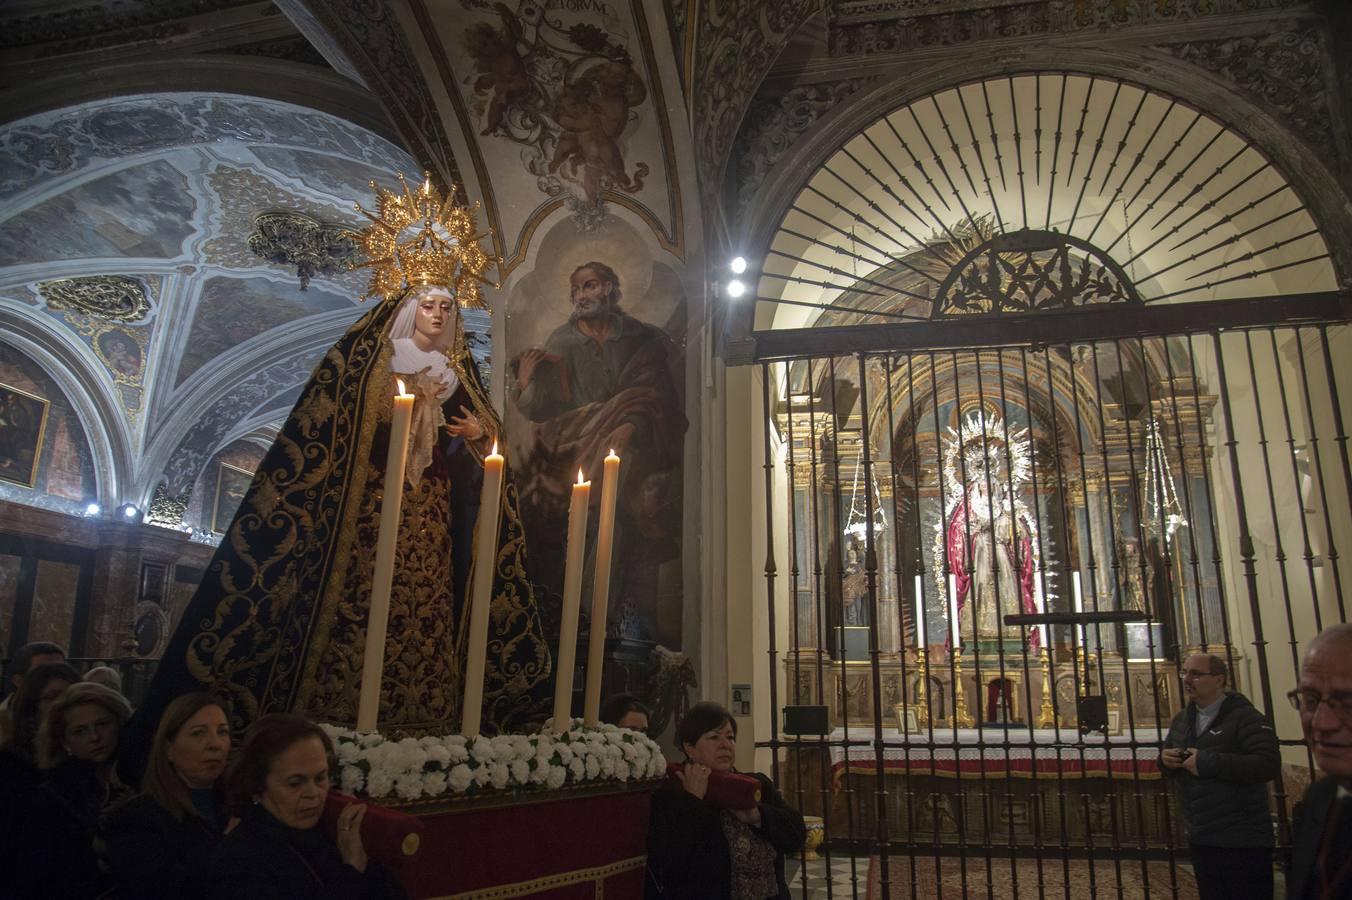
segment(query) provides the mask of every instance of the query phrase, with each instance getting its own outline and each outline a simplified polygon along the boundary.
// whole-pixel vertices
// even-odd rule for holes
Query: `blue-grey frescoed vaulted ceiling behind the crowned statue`
[[[370,131],[223,93],[96,101],[0,127],[0,316],[23,316],[51,358],[74,359],[78,388],[101,399],[85,408],[122,411],[84,423],[119,432],[93,446],[127,449],[96,466],[100,500],[143,507],[166,474],[191,485],[220,442],[287,414],[323,346],[369,304],[356,300],[360,273],[316,273],[301,289],[296,266],[256,255],[256,219],[353,224],[369,181],[396,172],[419,177]],[[100,301],[110,278],[141,285],[146,307],[118,320],[78,303]],[[49,301],[62,292],[74,305]],[[127,477],[114,485],[114,472]]]

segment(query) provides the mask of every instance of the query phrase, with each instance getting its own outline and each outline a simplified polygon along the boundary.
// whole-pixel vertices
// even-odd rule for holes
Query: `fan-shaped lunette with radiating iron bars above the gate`
[[[1105,262],[1144,303],[1336,288],[1305,201],[1242,135],[1122,81],[1028,74],[940,91],[846,141],[771,242],[757,327],[929,319],[953,262],[1002,235]],[[1015,250],[992,250],[1006,278]]]

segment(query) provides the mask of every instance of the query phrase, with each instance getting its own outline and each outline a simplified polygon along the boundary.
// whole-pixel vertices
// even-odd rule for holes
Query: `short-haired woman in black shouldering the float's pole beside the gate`
[[[731,714],[717,703],[696,703],[676,727],[676,742],[685,765],[653,793],[649,900],[787,900],[784,854],[803,846],[803,816],[758,773],[754,805],[718,809],[706,801],[710,777],[734,772]]]

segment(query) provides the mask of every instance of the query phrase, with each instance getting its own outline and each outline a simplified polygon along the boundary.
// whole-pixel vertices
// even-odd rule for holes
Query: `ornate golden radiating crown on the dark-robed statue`
[[[475,211],[456,203],[456,186],[442,197],[431,186],[431,174],[423,173],[418,191],[410,191],[399,176],[402,192],[387,191],[375,181],[376,212],[357,204],[357,212],[370,219],[370,226],[353,232],[366,261],[354,269],[372,269],[368,297],[391,299],[408,288],[441,285],[450,288],[462,307],[485,308],[479,284],[491,259],[479,247],[489,232],[475,234]]]

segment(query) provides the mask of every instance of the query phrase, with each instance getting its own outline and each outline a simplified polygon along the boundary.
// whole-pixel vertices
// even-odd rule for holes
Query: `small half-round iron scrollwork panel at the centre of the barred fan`
[[[1098,303],[1141,303],[1111,257],[1071,235],[1013,231],[963,254],[940,285],[932,315],[1040,312]]]

